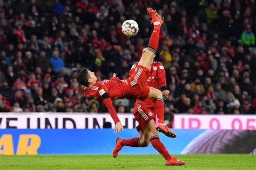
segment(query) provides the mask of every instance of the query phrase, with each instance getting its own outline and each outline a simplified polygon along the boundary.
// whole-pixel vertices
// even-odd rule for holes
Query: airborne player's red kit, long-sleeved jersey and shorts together
[[[99,81],[90,88],[84,88],[84,93],[87,97],[102,100],[114,123],[117,123],[120,120],[111,99],[139,98],[140,100],[145,100],[149,96],[150,90],[146,86],[146,80],[149,75],[149,69],[138,66],[128,79],[120,80],[118,77],[112,77],[110,80]]]

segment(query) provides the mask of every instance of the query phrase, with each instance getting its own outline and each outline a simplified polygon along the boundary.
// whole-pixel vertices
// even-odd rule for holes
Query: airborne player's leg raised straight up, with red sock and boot
[[[150,65],[153,62],[153,58],[156,56],[156,51],[159,44],[160,26],[164,24],[163,18],[161,18],[156,11],[151,8],[147,8],[151,16],[151,23],[154,24],[154,30],[151,34],[149,46],[143,49],[142,58],[140,58],[138,65],[142,65],[150,70]]]

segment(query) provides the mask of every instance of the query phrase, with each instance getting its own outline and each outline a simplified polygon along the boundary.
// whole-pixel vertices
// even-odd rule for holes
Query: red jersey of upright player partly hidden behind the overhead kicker
[[[129,74],[131,75],[135,68],[137,67],[138,62],[134,62],[132,68],[130,69]],[[166,90],[166,79],[165,79],[165,69],[163,63],[153,62],[150,70],[150,77],[147,79],[147,86],[154,87],[156,89]],[[154,99],[147,98],[144,101],[137,100],[136,104],[144,105],[145,107],[154,107]]]

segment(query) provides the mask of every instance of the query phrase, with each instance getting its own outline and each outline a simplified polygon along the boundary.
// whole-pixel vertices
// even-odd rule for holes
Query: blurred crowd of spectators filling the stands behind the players
[[[85,98],[76,75],[129,76],[149,41],[146,6],[165,18],[157,61],[163,62],[170,113],[255,114],[254,0],[0,0],[0,111],[107,112]],[[136,20],[139,34],[121,25]],[[134,101],[117,100],[117,112]]]

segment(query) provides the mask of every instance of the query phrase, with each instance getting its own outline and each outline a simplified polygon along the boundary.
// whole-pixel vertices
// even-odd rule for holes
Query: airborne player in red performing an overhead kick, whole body
[[[84,92],[87,97],[95,97],[97,100],[103,101],[116,124],[115,133],[123,130],[123,125],[117,116],[111,99],[128,98],[144,101],[146,98],[154,98],[154,109],[159,118],[158,130],[168,137],[174,137],[176,135],[164,123],[164,103],[161,91],[146,86],[147,78],[150,76],[150,65],[153,63],[158,48],[160,26],[164,23],[164,20],[156,11],[149,8],[147,11],[151,15],[152,20],[150,22],[154,24],[154,30],[150,37],[149,46],[143,49],[142,58],[140,58],[134,73],[126,80],[112,77],[110,80],[97,82],[95,73],[83,68],[77,75],[77,81],[85,86]]]

